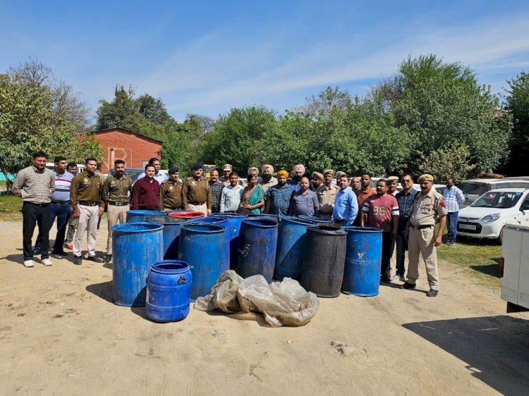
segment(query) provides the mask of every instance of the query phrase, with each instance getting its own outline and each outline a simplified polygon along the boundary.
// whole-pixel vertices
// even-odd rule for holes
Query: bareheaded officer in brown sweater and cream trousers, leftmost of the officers
[[[95,238],[97,235],[97,221],[104,212],[102,199],[103,179],[95,173],[97,159],[85,159],[86,170],[79,173],[72,180],[70,203],[73,217],[79,218],[75,241],[73,242],[73,264],[82,264],[83,235],[87,231],[88,259],[96,263],[103,260],[95,255]]]

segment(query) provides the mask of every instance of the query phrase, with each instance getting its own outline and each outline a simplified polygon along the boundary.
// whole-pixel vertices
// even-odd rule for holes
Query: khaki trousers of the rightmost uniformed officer
[[[422,254],[430,288],[439,290],[437,252],[435,251],[434,242],[434,227],[422,228],[422,230],[410,227],[410,235],[408,236],[408,280],[406,282],[412,285],[417,282],[419,278],[419,254]]]

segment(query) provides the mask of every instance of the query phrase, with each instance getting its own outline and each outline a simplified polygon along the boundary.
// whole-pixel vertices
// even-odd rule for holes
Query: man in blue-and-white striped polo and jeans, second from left
[[[55,168],[51,171],[55,177],[55,191],[51,194],[51,203],[49,205],[49,228],[54,225],[55,218],[57,218],[57,235],[55,237],[54,248],[51,254],[56,256],[67,256],[64,252],[63,244],[66,235],[66,227],[68,226],[68,219],[70,218],[70,187],[72,184],[73,175],[66,171],[68,161],[63,156],[57,156],[54,160]],[[39,230],[33,253],[40,252],[40,242],[42,241],[42,232]]]

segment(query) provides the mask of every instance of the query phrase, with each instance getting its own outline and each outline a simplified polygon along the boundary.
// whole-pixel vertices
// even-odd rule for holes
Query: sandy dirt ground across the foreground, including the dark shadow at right
[[[100,254],[106,236],[103,221]],[[194,309],[160,324],[112,303],[111,266],[75,266],[70,254],[24,268],[21,247],[22,224],[0,222],[3,395],[529,392],[529,314],[504,314],[499,291],[442,263],[437,298],[422,272],[418,290],[397,281],[377,297],[320,299],[301,328]]]

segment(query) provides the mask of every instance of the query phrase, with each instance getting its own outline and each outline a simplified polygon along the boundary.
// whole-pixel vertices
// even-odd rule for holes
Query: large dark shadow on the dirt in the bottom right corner
[[[498,392],[527,395],[529,321],[504,315],[402,326],[465,361],[475,378]]]

